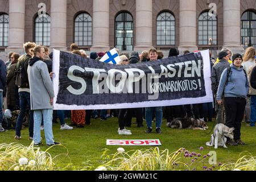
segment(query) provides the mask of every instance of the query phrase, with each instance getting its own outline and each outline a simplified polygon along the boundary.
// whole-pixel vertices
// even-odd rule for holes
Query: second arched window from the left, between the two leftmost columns
[[[50,46],[51,18],[44,14],[35,18],[34,41],[38,45]]]

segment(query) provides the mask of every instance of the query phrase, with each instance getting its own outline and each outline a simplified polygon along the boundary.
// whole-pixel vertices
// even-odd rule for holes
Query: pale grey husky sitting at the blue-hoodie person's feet
[[[214,127],[213,134],[210,135],[210,142],[207,142],[207,146],[213,146],[214,148],[218,148],[218,146],[223,146],[224,148],[228,148],[226,146],[226,137],[230,139],[234,139],[233,134],[234,128],[229,128],[228,126],[223,125],[222,123],[217,124]]]

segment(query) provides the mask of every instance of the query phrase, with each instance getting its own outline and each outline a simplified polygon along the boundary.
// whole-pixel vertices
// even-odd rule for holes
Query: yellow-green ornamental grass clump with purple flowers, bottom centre
[[[108,171],[177,171],[177,170],[217,170],[218,166],[210,166],[208,163],[209,154],[197,154],[180,148],[175,152],[159,150],[158,147],[142,150],[119,150],[109,155],[108,149],[104,149],[101,156],[102,165],[96,170]],[[203,147],[200,147],[203,150]]]

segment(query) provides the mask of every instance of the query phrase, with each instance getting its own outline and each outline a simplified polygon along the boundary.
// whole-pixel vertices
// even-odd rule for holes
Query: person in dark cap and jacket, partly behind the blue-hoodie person
[[[218,105],[216,101],[216,93],[218,90],[218,84],[220,82],[221,74],[224,69],[230,66],[228,60],[229,55],[225,51],[218,53],[218,59],[220,60],[217,64],[214,64],[212,67],[212,75],[210,79],[212,80],[212,92],[215,98],[215,111],[217,113],[216,121],[217,123],[225,123],[225,110],[223,105]]]

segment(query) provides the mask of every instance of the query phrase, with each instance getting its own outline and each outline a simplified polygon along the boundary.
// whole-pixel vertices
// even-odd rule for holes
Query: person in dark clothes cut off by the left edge
[[[2,127],[2,122],[3,122],[3,90],[5,88],[5,83],[6,83],[6,67],[5,63],[3,60],[0,59],[0,132],[6,131]]]

